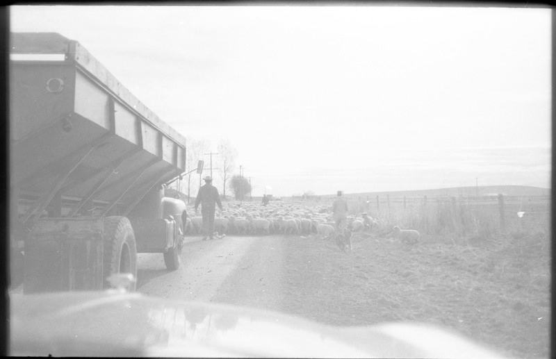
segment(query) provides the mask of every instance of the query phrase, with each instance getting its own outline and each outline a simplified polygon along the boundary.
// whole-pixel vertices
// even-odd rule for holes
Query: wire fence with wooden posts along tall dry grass
[[[479,197],[349,197],[350,215],[367,212],[391,226],[412,228],[432,235],[491,237],[525,235],[548,238],[550,196]],[[291,199],[293,203],[306,203]],[[318,206],[332,206],[334,197],[313,199]]]

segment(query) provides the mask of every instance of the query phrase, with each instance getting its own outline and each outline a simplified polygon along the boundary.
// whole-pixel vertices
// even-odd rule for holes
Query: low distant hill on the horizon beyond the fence
[[[414,190],[414,191],[389,191],[389,192],[363,192],[345,193],[346,197],[468,197],[475,196],[496,196],[499,193],[506,196],[550,196],[550,188],[531,187],[524,185],[491,185],[479,187],[452,187],[439,188],[436,190]],[[336,197],[336,194],[325,194],[321,197]]]

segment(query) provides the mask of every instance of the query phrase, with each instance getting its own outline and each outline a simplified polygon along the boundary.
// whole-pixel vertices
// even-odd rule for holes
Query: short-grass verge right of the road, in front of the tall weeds
[[[536,240],[473,244],[380,236],[354,251],[314,236],[286,237],[284,311],[325,324],[424,322],[508,357],[550,355],[550,255]]]

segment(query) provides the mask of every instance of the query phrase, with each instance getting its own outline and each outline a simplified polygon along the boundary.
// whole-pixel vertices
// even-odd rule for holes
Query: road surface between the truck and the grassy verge
[[[191,239],[177,271],[160,253],[138,256],[138,292],[187,301],[215,301],[276,309],[282,296],[281,236]]]

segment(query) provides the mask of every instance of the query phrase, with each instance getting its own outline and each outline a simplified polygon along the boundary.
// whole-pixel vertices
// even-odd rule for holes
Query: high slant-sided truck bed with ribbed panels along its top
[[[56,201],[61,215],[91,203],[98,215],[125,215],[154,185],[185,172],[185,138],[79,42],[11,33],[9,76],[10,199],[23,222]]]

